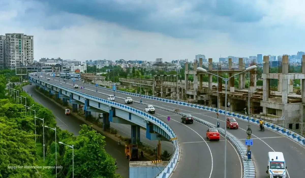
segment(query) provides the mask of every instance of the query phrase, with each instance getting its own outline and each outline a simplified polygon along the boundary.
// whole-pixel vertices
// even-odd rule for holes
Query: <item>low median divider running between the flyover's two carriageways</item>
[[[71,85],[71,84],[68,84],[68,85]],[[86,90],[89,90],[89,91],[93,91],[93,92],[96,92],[94,90],[91,90],[91,89],[88,89],[88,88],[85,88]],[[102,94],[102,95],[105,95],[105,96],[108,96],[109,94],[107,93],[102,93],[102,92],[97,92],[99,94]],[[117,99],[120,99],[120,100],[124,100],[125,98],[122,98],[122,97],[119,97],[119,96],[115,96],[115,98]],[[141,103],[141,102],[138,102],[138,101],[133,101],[134,103],[137,103],[137,104],[142,104],[142,105],[149,105],[149,104],[146,104],[146,103]],[[164,111],[168,111],[168,112],[172,112],[172,113],[175,113],[175,114],[178,114],[178,115],[185,115],[185,113],[181,113],[181,112],[176,112],[174,110],[171,110],[171,109],[167,109],[167,108],[163,108],[163,107],[160,107],[160,106],[156,106],[156,105],[153,105],[155,108],[157,109],[161,109],[161,110],[164,110]],[[203,119],[200,119],[200,118],[197,118],[197,117],[194,117],[194,120],[203,124],[203,125],[206,125],[207,127],[216,127],[216,125],[210,123],[210,122],[207,122]],[[225,136],[224,135],[224,129],[222,128],[217,128],[219,133],[222,135],[222,136]],[[235,136],[233,136],[231,133],[227,132],[227,139],[232,143],[232,145],[236,148],[237,152],[239,153],[239,156],[240,158],[242,159],[242,167],[243,167],[243,177],[244,178],[254,178],[255,177],[255,166],[254,166],[254,162],[253,160],[247,160],[245,159],[246,158],[246,152],[247,152],[247,149],[245,147],[245,145],[240,141],[238,140]]]

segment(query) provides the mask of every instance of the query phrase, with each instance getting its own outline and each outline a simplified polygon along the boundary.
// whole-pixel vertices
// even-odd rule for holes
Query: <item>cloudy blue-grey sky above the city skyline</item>
[[[0,0],[0,35],[34,60],[195,59],[305,51],[304,0]]]

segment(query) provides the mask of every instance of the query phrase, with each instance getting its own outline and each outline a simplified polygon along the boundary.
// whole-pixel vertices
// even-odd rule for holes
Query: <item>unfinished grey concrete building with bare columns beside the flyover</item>
[[[232,67],[232,59],[228,59],[228,67],[213,68],[213,60],[208,60],[209,65],[207,71],[218,76],[226,74],[231,77],[235,74],[245,71],[246,66],[243,59],[239,58],[238,68]],[[145,80],[145,88],[154,90],[159,97],[174,97],[175,91],[181,93],[179,98],[192,103],[204,104],[212,107],[225,109],[225,82],[218,78],[218,83],[213,83],[213,75],[206,72],[188,70],[189,63],[185,63],[185,80],[181,80],[181,84],[175,80],[165,76],[155,76],[154,80]],[[250,65],[258,65],[256,61],[251,61]],[[250,66],[249,65],[249,66]],[[194,62],[194,66],[203,66],[202,59]],[[247,66],[247,67],[249,67]],[[289,129],[294,129],[299,133],[305,131],[305,55],[302,57],[302,66],[300,73],[292,73],[293,66],[288,63],[288,56],[283,55],[282,59],[277,63],[277,71],[271,73],[269,66],[269,56],[264,56],[263,72],[261,78],[257,78],[257,69],[246,71],[238,74],[238,85],[235,86],[235,77],[232,77],[227,83],[227,105],[228,111],[245,113],[248,111],[248,99],[250,99],[250,113],[256,118],[284,125]],[[277,72],[277,73],[275,73]],[[188,78],[193,75],[193,82]],[[203,82],[203,76],[208,77],[207,82]],[[246,87],[246,75],[249,75],[248,86]],[[122,81],[121,81],[122,80]],[[257,81],[262,80],[263,86],[257,86]],[[300,89],[293,91],[293,80],[300,80]],[[120,79],[124,85],[134,85],[136,81],[129,79]],[[277,83],[277,86],[271,86],[271,83]],[[143,85],[142,85],[143,87]],[[176,90],[175,90],[176,89]],[[165,93],[164,93],[165,92]],[[166,93],[168,92],[168,93]],[[171,92],[171,94],[170,94]],[[246,108],[246,109],[245,109]],[[283,121],[281,118],[285,117]]]

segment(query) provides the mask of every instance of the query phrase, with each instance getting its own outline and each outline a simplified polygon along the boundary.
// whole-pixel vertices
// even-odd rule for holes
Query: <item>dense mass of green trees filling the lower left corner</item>
[[[6,72],[9,73],[9,72]],[[10,76],[13,77],[13,76]],[[66,130],[56,126],[55,116],[52,111],[34,102],[34,100],[21,91],[20,96],[26,96],[27,106],[34,104],[31,109],[25,107],[25,99],[16,104],[5,89],[7,80],[0,74],[0,178],[47,178],[55,177],[55,169],[21,169],[18,166],[55,166],[55,131],[42,127],[42,121],[36,119],[37,143],[35,144],[34,114],[38,118],[44,118],[45,125],[56,128],[57,142],[74,145],[74,177],[75,178],[120,178],[115,173],[114,159],[106,153],[104,136],[97,133],[90,126],[82,125],[79,136],[73,136]],[[41,162],[43,148],[43,129],[45,132],[45,163]],[[37,145],[37,147],[35,147]],[[57,165],[63,166],[57,169],[57,177],[72,177],[72,149],[57,143]],[[10,169],[8,166],[17,166]]]

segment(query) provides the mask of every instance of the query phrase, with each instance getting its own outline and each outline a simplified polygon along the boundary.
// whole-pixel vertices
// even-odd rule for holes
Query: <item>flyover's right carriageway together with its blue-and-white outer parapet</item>
[[[89,86],[89,85],[88,85]],[[103,89],[104,93],[113,94],[112,89],[107,89],[105,87],[99,87]],[[130,96],[133,100],[140,100],[139,94],[128,93],[124,91],[115,91],[116,96],[118,97],[127,97]],[[142,103],[152,104],[155,106],[160,106],[167,108],[168,111],[173,111],[177,108],[176,100],[168,100],[164,98],[158,98],[153,96],[141,96]],[[215,123],[217,122],[217,108],[207,107],[199,104],[191,104],[186,102],[178,102],[178,107],[181,112],[189,113],[195,117],[201,117],[204,120]],[[219,116],[220,126],[224,128],[224,110],[218,110],[221,115]],[[230,130],[230,133],[237,137],[239,140],[246,139],[246,129],[248,124],[248,116],[235,113],[227,112],[228,116],[238,118],[239,129]],[[252,138],[253,146],[251,147],[252,158],[256,166],[256,177],[266,177],[267,170],[267,153],[269,151],[280,151],[283,152],[286,160],[287,177],[303,177],[305,172],[305,138],[300,136],[298,133],[293,132],[287,128],[283,128],[280,125],[276,125],[270,122],[265,122],[264,132],[261,132],[258,128],[258,119],[250,117],[250,123],[252,128]],[[295,166],[299,165],[299,166]],[[301,167],[301,169],[300,169]]]

